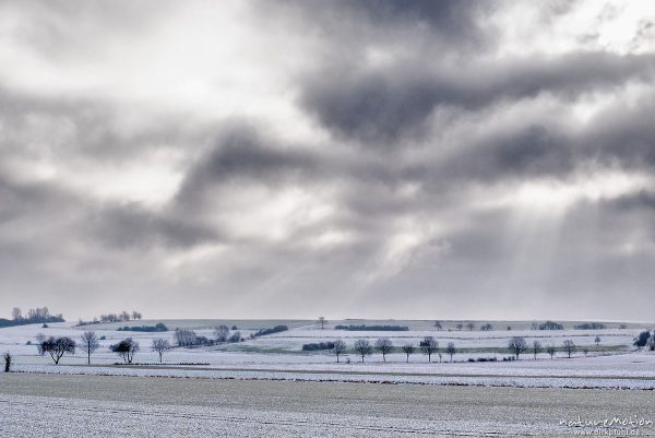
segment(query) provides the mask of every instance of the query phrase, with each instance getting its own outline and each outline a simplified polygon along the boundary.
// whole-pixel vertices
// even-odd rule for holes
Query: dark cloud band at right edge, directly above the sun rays
[[[568,180],[581,169],[651,171],[655,165],[655,110],[646,94],[636,103],[612,105],[584,128],[545,118],[502,127],[483,138],[460,135],[446,156],[427,156],[401,169],[403,178],[432,189],[463,181],[498,182],[555,178]]]

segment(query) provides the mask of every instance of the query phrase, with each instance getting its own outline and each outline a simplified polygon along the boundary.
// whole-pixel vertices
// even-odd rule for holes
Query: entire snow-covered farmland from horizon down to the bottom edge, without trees
[[[241,322],[246,338],[273,323]],[[159,338],[172,341],[170,331],[116,330],[124,323],[4,328],[0,352],[11,352],[16,372],[0,374],[0,435],[572,436],[575,429],[561,426],[561,418],[640,415],[654,419],[648,406],[655,390],[655,354],[631,346],[647,324],[550,332],[513,323],[520,330],[437,331],[419,321],[404,332],[353,332],[297,321],[288,331],[237,344],[176,347],[165,353],[163,365],[150,345]],[[213,334],[205,321],[183,321],[178,327]],[[91,366],[81,351],[55,365],[28,345],[39,333],[79,340],[85,330],[103,338]],[[396,346],[407,342],[418,346],[427,335],[440,344],[441,357],[433,354],[432,363],[418,348],[409,363],[397,350],[386,355],[386,362],[374,353],[365,363],[348,351],[338,364],[329,352],[301,351],[309,342],[342,339],[352,345],[366,339],[372,344],[381,336]],[[571,339],[577,352],[570,359],[561,351],[553,359],[545,353],[534,359],[526,352],[520,360],[503,362],[510,356],[508,340],[515,335],[544,346],[561,346]],[[114,365],[120,359],[109,345],[127,336],[141,344],[134,358],[139,364]],[[452,363],[444,353],[449,342],[458,348]],[[582,353],[585,347],[587,356]],[[468,362],[479,357],[497,362]],[[58,421],[70,415],[80,418],[74,427]],[[639,431],[648,436],[654,430]]]

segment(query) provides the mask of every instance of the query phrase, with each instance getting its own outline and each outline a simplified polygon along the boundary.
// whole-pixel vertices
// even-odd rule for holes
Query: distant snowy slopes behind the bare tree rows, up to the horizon
[[[123,324],[140,324],[141,322],[127,322]],[[17,325],[11,328],[0,329],[0,350],[10,350],[14,355],[17,356],[31,356],[36,352],[35,345],[26,345],[27,342],[35,342],[36,335],[43,333],[46,336],[70,336],[73,340],[79,340],[80,335],[85,330],[93,330],[98,336],[105,336],[105,340],[100,341],[102,348],[98,351],[98,358],[109,358],[108,347],[111,344],[117,343],[119,340],[131,336],[141,344],[141,352],[139,356],[142,357],[140,360],[152,360],[155,358],[150,352],[150,345],[152,340],[155,338],[165,338],[172,342],[172,332],[164,333],[144,333],[144,332],[128,332],[117,331],[115,329],[103,329],[103,325],[86,325],[86,327],[74,327],[70,322],[52,323],[49,328],[44,329],[40,324],[28,324]],[[594,340],[598,335],[600,336],[600,345],[607,346],[623,346],[628,348],[633,341],[633,338],[641,331],[647,329],[644,325],[642,329],[606,329],[606,330],[559,330],[559,331],[534,331],[534,330],[516,330],[516,331],[437,331],[437,330],[412,330],[405,332],[369,332],[369,331],[345,331],[345,330],[333,330],[325,329],[321,330],[317,324],[301,325],[291,328],[288,331],[274,333],[267,336],[257,338],[238,344],[229,344],[222,346],[218,350],[227,351],[275,351],[286,353],[300,353],[299,356],[305,355],[301,352],[302,344],[326,342],[336,339],[344,340],[347,344],[353,344],[357,339],[366,339],[369,342],[374,343],[379,338],[389,338],[395,345],[401,346],[405,343],[412,343],[418,345],[419,341],[425,336],[433,336],[440,344],[441,350],[448,345],[449,342],[454,342],[457,348],[504,348],[508,341],[512,336],[525,338],[528,345],[533,341],[539,341],[544,347],[553,345],[556,347],[561,346],[563,340],[570,339],[575,342],[579,350],[584,346],[594,346]],[[212,338],[212,330],[202,329],[195,330],[198,334]],[[248,338],[254,330],[239,330],[243,338]],[[186,353],[193,353],[194,355],[199,352],[204,352],[207,348],[192,348],[192,350],[179,350],[176,348],[175,353],[181,353],[182,356]],[[211,350],[211,348],[210,348]],[[593,350],[593,348],[592,348]],[[172,353],[172,352],[171,352]],[[325,362],[322,354],[317,352],[319,358],[315,362]],[[150,356],[148,356],[150,354]],[[314,353],[315,355],[315,353]],[[82,357],[81,355],[79,355]],[[473,354],[473,357],[492,357],[493,354]],[[496,354],[500,359],[503,355]],[[544,355],[545,356],[545,355]],[[195,356],[194,356],[195,357]],[[213,355],[206,356],[211,363]],[[469,356],[457,355],[458,360],[466,360]],[[258,359],[260,359],[258,357]],[[438,359],[438,357],[437,357]],[[33,359],[31,359],[33,360]],[[218,359],[221,360],[221,359]],[[207,362],[207,360],[195,360],[195,362]],[[314,362],[312,359],[301,359],[301,362]]]

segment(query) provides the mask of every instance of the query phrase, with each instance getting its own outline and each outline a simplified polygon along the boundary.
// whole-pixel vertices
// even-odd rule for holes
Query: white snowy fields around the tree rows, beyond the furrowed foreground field
[[[87,374],[118,376],[160,376],[160,377],[196,377],[209,379],[284,379],[307,381],[366,381],[390,383],[426,383],[426,384],[469,384],[469,386],[515,386],[515,387],[552,387],[552,388],[623,388],[655,389],[655,354],[641,352],[622,352],[614,354],[591,354],[584,357],[576,353],[571,359],[558,353],[556,359],[540,354],[536,360],[524,354],[517,362],[500,362],[508,354],[474,353],[456,354],[455,363],[446,363],[450,357],[442,353],[432,356],[433,363],[416,353],[406,364],[403,354],[390,354],[386,363],[379,354],[367,357],[364,364],[360,358],[349,354],[336,364],[334,357],[325,352],[302,353],[297,345],[307,340],[321,342],[337,338],[346,339],[367,336],[374,341],[388,335],[394,343],[402,344],[407,340],[418,343],[425,335],[433,335],[441,348],[449,340],[458,347],[504,346],[512,335],[524,335],[528,342],[538,339],[543,345],[561,345],[562,339],[573,339],[582,350],[582,345],[592,345],[598,334],[604,345],[628,345],[639,330],[600,330],[591,334],[585,331],[462,331],[438,332],[429,330],[402,332],[344,332],[320,330],[315,324],[298,327],[288,332],[263,336],[254,341],[240,343],[239,347],[258,347],[255,352],[222,351],[214,348],[175,348],[165,354],[168,364],[194,363],[207,364],[194,367],[147,366],[115,367],[118,357],[109,351],[109,345],[118,340],[132,336],[141,343],[142,351],[135,356],[138,363],[155,363],[158,357],[150,351],[155,338],[171,339],[172,333],[123,332],[110,329],[95,330],[98,336],[105,336],[102,347],[93,355],[93,366],[85,365],[86,357],[82,352],[73,356],[64,356],[60,365],[55,366],[48,356],[37,355],[35,345],[26,345],[35,340],[37,333],[46,335],[68,335],[79,339],[84,330],[71,323],[50,324],[43,329],[40,324],[0,329],[0,351],[11,351],[15,357],[14,370],[22,372],[46,374]],[[211,330],[199,330],[199,334],[211,335]],[[248,331],[242,331],[248,334]],[[298,336],[298,338],[296,338]],[[349,338],[347,338],[349,336]],[[266,348],[288,348],[285,353],[267,353]],[[496,363],[468,363],[468,357],[497,357]],[[349,364],[344,362],[350,359]]]

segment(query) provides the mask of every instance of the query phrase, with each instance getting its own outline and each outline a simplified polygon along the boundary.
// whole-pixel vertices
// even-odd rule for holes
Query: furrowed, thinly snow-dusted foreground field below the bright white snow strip
[[[562,421],[652,419],[650,391],[0,375],[13,438],[562,437],[593,430]]]

